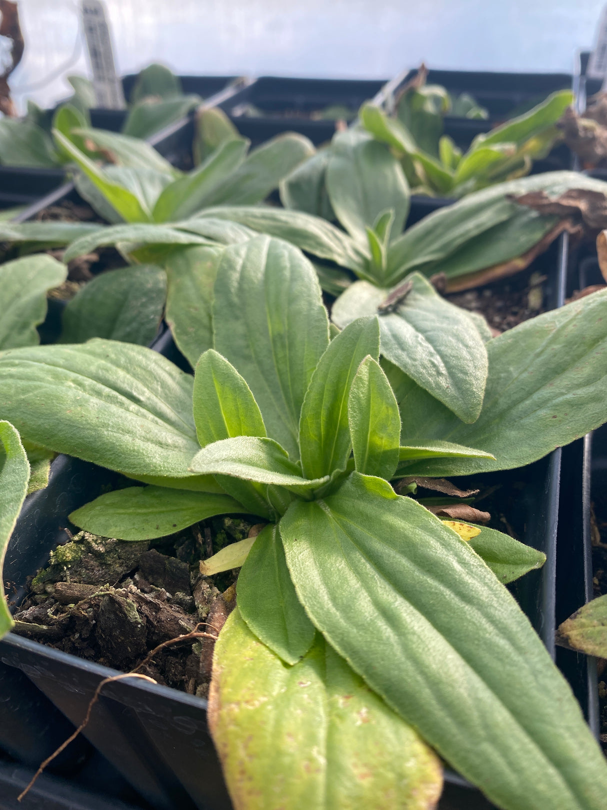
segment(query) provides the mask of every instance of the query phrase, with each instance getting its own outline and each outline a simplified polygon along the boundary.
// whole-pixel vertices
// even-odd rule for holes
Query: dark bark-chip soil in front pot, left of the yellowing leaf
[[[210,518],[176,535],[134,543],[81,531],[32,578],[15,612],[15,632],[122,671],[177,636],[195,629],[215,634],[236,603],[237,572],[203,577],[199,561],[211,546],[216,553],[247,537],[252,525]],[[203,622],[209,627],[198,626]],[[213,648],[209,638],[167,646],[138,672],[206,697]]]

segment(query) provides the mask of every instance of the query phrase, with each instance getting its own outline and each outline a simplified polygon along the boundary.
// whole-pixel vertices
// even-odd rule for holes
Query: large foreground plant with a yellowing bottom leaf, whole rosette
[[[77,525],[134,540],[214,514],[268,522],[231,548],[238,611],[214,661],[236,806],[431,806],[431,744],[507,810],[602,807],[601,752],[495,559],[388,481],[520,466],[604,422],[605,315],[598,292],[490,339],[466,424],[378,363],[376,317],[329,340],[312,265],[254,237],[223,249],[193,379],[107,340],[0,354],[0,416],[24,437],[149,484]],[[503,564],[523,548],[478,537]]]

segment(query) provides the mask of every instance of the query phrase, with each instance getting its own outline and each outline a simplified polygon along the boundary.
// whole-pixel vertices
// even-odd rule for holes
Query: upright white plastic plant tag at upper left
[[[116,75],[112,39],[101,0],[82,0],[84,36],[93,70],[93,87],[98,107],[125,109],[122,84]]]

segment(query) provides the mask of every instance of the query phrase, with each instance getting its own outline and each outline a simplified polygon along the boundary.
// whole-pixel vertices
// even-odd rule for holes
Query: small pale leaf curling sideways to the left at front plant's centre
[[[214,441],[193,457],[192,472],[202,475],[228,475],[258,484],[278,484],[291,492],[305,495],[329,480],[302,478],[297,464],[274,439],[238,436]],[[223,484],[222,484],[223,485]]]

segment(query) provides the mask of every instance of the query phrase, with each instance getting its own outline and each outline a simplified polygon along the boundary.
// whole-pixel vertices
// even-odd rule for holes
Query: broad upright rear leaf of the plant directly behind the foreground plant
[[[362,244],[365,228],[386,208],[395,211],[395,234],[404,227],[410,194],[401,164],[367,133],[346,130],[333,137],[326,185],[337,219]]]

